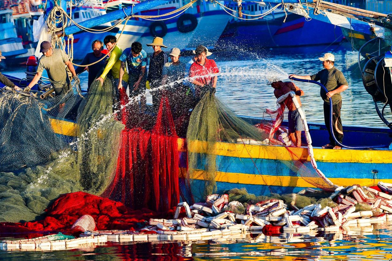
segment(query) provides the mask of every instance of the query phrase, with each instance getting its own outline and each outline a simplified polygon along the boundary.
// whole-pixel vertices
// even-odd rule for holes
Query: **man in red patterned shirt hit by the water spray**
[[[215,93],[216,81],[218,77],[214,74],[219,72],[216,63],[212,59],[207,59],[207,49],[199,45],[195,50],[196,62],[192,63],[189,69],[190,81],[195,85],[196,100],[199,102],[205,92]]]

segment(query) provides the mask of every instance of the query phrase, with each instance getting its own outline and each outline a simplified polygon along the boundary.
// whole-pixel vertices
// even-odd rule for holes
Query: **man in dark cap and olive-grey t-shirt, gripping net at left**
[[[76,75],[72,62],[63,50],[57,48],[53,49],[50,42],[44,41],[40,45],[40,52],[44,55],[41,56],[40,60],[38,60],[37,73],[34,75],[30,84],[24,89],[25,92],[29,92],[40,80],[42,72],[45,69],[47,71],[49,81],[54,88],[54,93],[56,95],[67,93],[69,89],[71,89],[71,80],[68,77],[64,64],[72,73],[74,82],[76,84],[80,84],[80,80]]]

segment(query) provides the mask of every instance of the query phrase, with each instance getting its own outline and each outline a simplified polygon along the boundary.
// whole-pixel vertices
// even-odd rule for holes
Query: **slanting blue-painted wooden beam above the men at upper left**
[[[133,13],[136,14],[140,11],[152,9],[153,7],[156,7],[156,6],[162,5],[162,4],[166,4],[167,2],[169,2],[169,0],[147,0],[147,1],[142,2],[140,4],[136,4],[133,7]],[[83,27],[91,28],[91,27],[94,27],[97,25],[102,25],[107,22],[114,21],[114,20],[123,19],[123,18],[125,18],[127,16],[131,16],[131,15],[132,15],[132,7],[130,6],[128,8],[123,8],[118,11],[111,12],[109,14],[104,14],[102,16],[91,18],[89,20],[81,22],[80,25],[82,25]],[[82,29],[80,29],[76,25],[71,25],[71,26],[65,28],[64,33],[66,35],[70,35],[70,34],[77,33],[79,31],[82,31]]]

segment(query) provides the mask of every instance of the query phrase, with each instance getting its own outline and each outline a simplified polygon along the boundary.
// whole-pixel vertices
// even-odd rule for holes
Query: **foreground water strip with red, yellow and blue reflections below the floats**
[[[352,226],[336,233],[246,233],[193,242],[84,246],[51,252],[1,252],[3,260],[390,260],[392,223]]]

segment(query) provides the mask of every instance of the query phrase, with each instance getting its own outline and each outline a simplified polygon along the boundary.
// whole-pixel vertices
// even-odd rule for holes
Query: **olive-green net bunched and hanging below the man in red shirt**
[[[268,136],[223,105],[214,94],[207,92],[193,109],[187,130],[190,179],[204,179],[204,196],[216,192],[216,145],[218,142],[237,143],[240,138],[263,141]],[[218,162],[219,164],[219,162]]]

